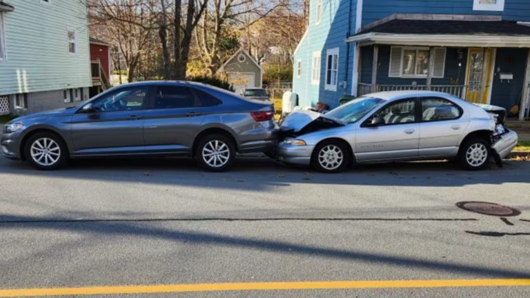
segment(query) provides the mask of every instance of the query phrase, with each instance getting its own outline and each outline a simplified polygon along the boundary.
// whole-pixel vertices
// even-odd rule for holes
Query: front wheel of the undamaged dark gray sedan
[[[39,170],[57,170],[68,161],[68,148],[55,133],[37,132],[26,141],[24,155]]]

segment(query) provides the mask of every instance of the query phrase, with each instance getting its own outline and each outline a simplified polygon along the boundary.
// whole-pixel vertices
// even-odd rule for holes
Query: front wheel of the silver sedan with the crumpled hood
[[[323,141],[313,150],[311,165],[319,172],[343,172],[350,165],[350,159],[349,150],[344,142]]]

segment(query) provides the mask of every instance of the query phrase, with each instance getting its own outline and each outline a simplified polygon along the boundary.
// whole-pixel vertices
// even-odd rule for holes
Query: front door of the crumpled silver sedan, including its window
[[[370,126],[374,117],[384,123]],[[417,99],[402,99],[386,104],[373,113],[357,129],[355,158],[357,161],[384,161],[418,157],[420,123]]]

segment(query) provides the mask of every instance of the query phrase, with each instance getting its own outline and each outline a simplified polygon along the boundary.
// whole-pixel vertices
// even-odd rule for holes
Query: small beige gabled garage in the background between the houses
[[[262,88],[264,70],[246,50],[237,50],[219,71],[226,76],[237,94],[246,88]]]

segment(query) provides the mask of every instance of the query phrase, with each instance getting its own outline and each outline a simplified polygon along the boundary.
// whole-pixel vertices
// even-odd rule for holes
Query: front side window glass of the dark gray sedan
[[[117,90],[92,102],[92,106],[101,112],[141,110],[148,97],[148,87]]]

